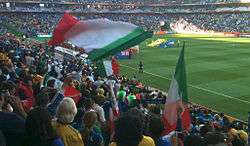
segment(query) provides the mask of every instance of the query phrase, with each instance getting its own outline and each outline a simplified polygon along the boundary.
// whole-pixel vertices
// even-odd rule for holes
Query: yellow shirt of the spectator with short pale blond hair
[[[70,125],[53,121],[52,126],[56,134],[62,139],[64,146],[84,146],[81,134]]]

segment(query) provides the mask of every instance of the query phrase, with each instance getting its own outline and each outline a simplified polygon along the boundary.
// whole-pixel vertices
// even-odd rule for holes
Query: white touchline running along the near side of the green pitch
[[[124,66],[124,67],[127,67],[127,68],[130,68],[130,69],[133,69],[133,70],[137,70],[134,67],[130,67],[130,66],[123,65],[123,64],[120,64],[120,65]],[[157,74],[154,74],[154,73],[151,73],[151,72],[147,72],[147,71],[144,71],[144,72],[146,74],[150,74],[152,76],[156,76],[156,77],[159,77],[159,78],[171,81],[170,78],[163,77],[163,76],[160,76],[160,75],[157,75]],[[219,92],[216,92],[216,91],[212,91],[212,90],[209,90],[209,89],[206,89],[206,88],[202,88],[202,87],[199,87],[199,86],[195,86],[195,85],[191,85],[191,84],[188,84],[188,86],[190,86],[192,88],[195,88],[195,89],[198,89],[198,90],[202,90],[202,91],[206,91],[206,92],[209,92],[209,93],[212,93],[212,94],[216,94],[216,95],[219,95],[219,96],[224,96],[224,97],[229,98],[229,99],[233,99],[233,100],[237,100],[237,101],[240,101],[240,102],[244,102],[246,104],[250,104],[250,101],[242,100],[242,99],[239,99],[237,97],[233,97],[233,96],[230,96],[230,95],[226,95],[226,94],[223,94],[223,93],[219,93]]]

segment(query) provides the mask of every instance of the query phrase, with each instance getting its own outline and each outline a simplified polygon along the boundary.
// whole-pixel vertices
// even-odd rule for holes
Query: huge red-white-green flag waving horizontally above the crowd
[[[80,21],[65,13],[57,24],[50,45],[68,41],[84,48],[92,60],[99,60],[126,50],[152,36],[142,28],[120,21],[93,19]]]

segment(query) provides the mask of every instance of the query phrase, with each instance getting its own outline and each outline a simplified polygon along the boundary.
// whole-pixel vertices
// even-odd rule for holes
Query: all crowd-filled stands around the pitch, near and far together
[[[88,60],[59,61],[54,47],[26,38],[51,34],[65,10],[81,20],[108,18],[154,31],[160,30],[164,21],[168,31],[250,32],[249,12],[235,12],[237,4],[218,8],[214,4],[176,6],[192,2],[181,0],[169,1],[172,6],[145,5],[163,0],[89,0],[84,2],[90,4],[80,6],[80,0],[8,2],[10,7],[0,2],[0,145],[247,145],[246,123],[192,103],[191,128],[162,136],[165,93],[143,85],[136,77],[103,78],[96,64]],[[111,5],[91,5],[101,2]],[[15,32],[26,36],[17,37],[12,34]],[[79,49],[69,44],[65,47]],[[48,76],[53,78],[46,80]],[[72,98],[65,97],[57,82],[62,82],[63,90],[70,89]],[[114,96],[120,115],[114,111]]]

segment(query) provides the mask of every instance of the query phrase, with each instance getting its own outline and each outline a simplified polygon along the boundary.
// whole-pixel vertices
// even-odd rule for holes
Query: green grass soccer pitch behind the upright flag
[[[120,60],[122,74],[167,92],[181,47],[160,49],[146,42],[169,38],[186,42],[185,61],[191,102],[241,120],[250,111],[250,39],[199,35],[154,36],[131,60]],[[139,61],[144,74],[138,74]]]

